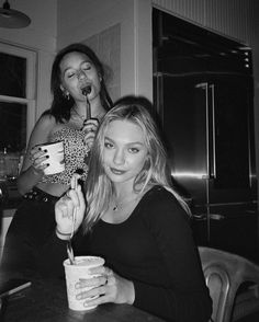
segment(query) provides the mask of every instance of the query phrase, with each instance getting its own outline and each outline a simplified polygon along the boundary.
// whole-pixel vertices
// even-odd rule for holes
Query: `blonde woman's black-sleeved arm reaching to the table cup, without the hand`
[[[134,281],[134,306],[178,322],[207,322],[211,299],[187,215],[169,193],[149,199],[144,225],[160,250],[168,287]]]

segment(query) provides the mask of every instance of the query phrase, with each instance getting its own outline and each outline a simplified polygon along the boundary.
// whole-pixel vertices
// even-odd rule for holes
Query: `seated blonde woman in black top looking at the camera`
[[[56,273],[63,272],[77,206],[76,253],[105,260],[92,269],[100,277],[77,285],[78,300],[86,307],[128,303],[166,321],[207,322],[212,303],[190,210],[170,184],[166,152],[143,99],[124,97],[105,114],[89,166],[87,208],[80,187],[56,204],[56,231],[41,253],[44,262],[55,258]],[[85,291],[88,285],[94,288]],[[91,299],[95,295],[101,296]]]

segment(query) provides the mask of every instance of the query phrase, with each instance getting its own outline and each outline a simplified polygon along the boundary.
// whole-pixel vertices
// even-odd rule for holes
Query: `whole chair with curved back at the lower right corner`
[[[214,322],[237,321],[259,311],[258,265],[222,250],[199,246],[199,252],[213,301]]]

